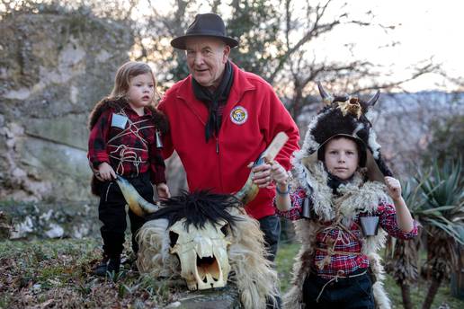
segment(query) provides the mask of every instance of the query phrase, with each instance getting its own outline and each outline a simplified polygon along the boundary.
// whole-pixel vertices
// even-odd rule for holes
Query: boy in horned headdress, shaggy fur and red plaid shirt
[[[285,308],[389,308],[377,253],[386,234],[417,235],[417,224],[401,197],[399,181],[383,162],[370,124],[369,102],[331,96],[308,126],[295,154],[296,190],[289,175],[272,165],[275,205],[295,221],[302,242]],[[373,225],[372,225],[373,222]],[[379,231],[377,231],[379,229]]]

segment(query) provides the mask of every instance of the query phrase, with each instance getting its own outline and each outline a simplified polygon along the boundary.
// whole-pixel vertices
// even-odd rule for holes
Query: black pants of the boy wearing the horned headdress
[[[361,273],[363,270],[354,272]],[[329,279],[309,275],[303,284],[303,302],[307,308],[374,309],[372,282],[368,273],[353,278],[338,278],[326,285]],[[324,291],[319,296],[322,288]],[[319,301],[317,302],[317,297]]]

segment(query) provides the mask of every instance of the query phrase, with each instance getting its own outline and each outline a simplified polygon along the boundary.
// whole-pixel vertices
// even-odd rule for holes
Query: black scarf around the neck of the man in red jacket
[[[222,80],[214,91],[211,93],[208,88],[203,87],[201,84],[198,84],[194,78],[192,78],[193,84],[193,93],[195,94],[195,98],[197,100],[203,102],[208,107],[210,111],[210,115],[208,116],[208,121],[205,125],[205,137],[206,142],[210,137],[218,136],[219,128],[222,121],[221,115],[218,115],[219,107],[225,105],[228,102],[228,93],[230,93],[230,89],[232,88],[232,84],[234,83],[234,72],[232,70],[232,65],[230,61],[226,64],[226,68],[224,70],[224,75],[222,76]]]

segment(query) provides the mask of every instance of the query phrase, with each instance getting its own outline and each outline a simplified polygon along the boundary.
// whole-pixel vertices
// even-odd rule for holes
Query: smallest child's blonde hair
[[[156,90],[157,83],[155,75],[153,74],[150,66],[148,66],[146,63],[138,61],[129,61],[120,66],[118,72],[116,72],[116,76],[114,77],[114,86],[112,88],[112,93],[110,93],[110,98],[120,99],[125,97],[129,92],[130,79],[142,74],[149,74],[153,78],[153,84],[155,88],[153,104],[156,105],[161,98],[161,95]]]

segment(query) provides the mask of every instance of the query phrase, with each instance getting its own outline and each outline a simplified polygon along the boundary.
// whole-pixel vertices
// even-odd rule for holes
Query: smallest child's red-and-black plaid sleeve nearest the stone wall
[[[105,110],[90,131],[87,158],[95,169],[103,163],[110,163],[106,152],[106,141],[110,131],[112,112]]]

